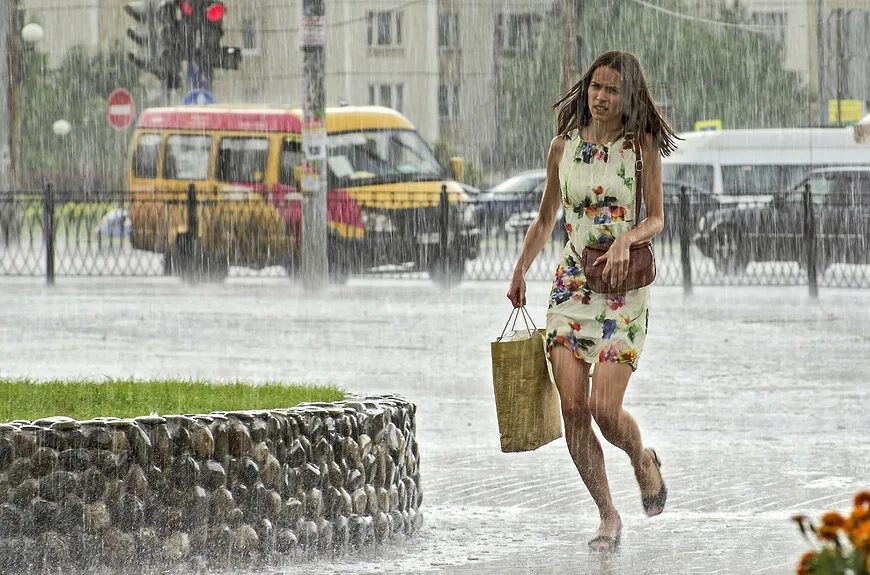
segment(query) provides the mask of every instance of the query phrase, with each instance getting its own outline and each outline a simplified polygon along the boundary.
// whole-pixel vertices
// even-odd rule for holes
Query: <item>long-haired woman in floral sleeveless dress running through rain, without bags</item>
[[[607,441],[628,454],[647,515],[664,510],[668,493],[658,455],[644,447],[637,423],[622,406],[646,338],[649,288],[595,293],[586,285],[579,254],[588,244],[609,242],[599,258],[603,274],[612,285],[622,283],[629,247],[651,240],[664,225],[661,156],[675,149],[677,136],[656,108],[640,63],[628,52],[600,55],[553,109],[558,135],[547,156],[546,189],[507,297],[514,307],[525,306],[525,272],[548,241],[562,205],[569,241],[550,292],[547,349],[568,451],[601,518],[589,547],[612,551],[619,546],[622,520],[592,420]],[[646,205],[642,221],[634,221],[636,161],[642,166]]]

